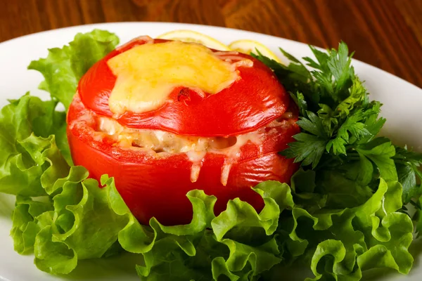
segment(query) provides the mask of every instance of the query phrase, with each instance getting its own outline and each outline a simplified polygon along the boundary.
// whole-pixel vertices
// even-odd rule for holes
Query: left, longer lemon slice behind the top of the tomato
[[[217,39],[192,30],[174,30],[165,34],[161,34],[156,38],[199,43],[207,46],[208,48],[214,48],[215,50],[230,51],[228,46],[222,44],[222,42],[218,41]]]

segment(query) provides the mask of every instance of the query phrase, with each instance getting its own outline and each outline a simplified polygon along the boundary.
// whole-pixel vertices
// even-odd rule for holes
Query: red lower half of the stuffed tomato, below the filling
[[[246,143],[241,155],[232,164],[226,186],[220,178],[222,166],[228,158],[221,153],[207,152],[203,159],[198,180],[191,182],[192,162],[186,154],[153,157],[146,152],[120,148],[110,138],[94,138],[94,119],[72,121],[82,115],[95,115],[75,97],[68,112],[68,141],[72,159],[76,165],[88,169],[91,178],[99,181],[101,175],[115,178],[116,188],[134,216],[143,224],[155,217],[164,225],[189,223],[192,219],[189,190],[204,190],[215,195],[215,214],[226,209],[229,200],[239,197],[257,211],[264,206],[262,197],[251,188],[262,181],[275,180],[288,183],[298,169],[292,159],[277,152],[293,141],[300,130],[295,124],[297,117],[289,119],[277,129],[268,129],[262,136],[262,144]]]

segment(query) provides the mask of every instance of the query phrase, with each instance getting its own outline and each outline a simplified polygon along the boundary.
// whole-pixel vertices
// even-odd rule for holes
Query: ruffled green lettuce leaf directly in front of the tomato
[[[259,214],[235,199],[215,217],[215,197],[192,190],[187,195],[191,223],[162,226],[152,218],[146,227],[130,216],[119,242],[125,250],[143,254],[145,264],[136,268],[143,280],[256,280],[281,261],[274,231],[281,211],[293,200],[288,185],[275,181],[261,183],[255,191],[265,202]]]

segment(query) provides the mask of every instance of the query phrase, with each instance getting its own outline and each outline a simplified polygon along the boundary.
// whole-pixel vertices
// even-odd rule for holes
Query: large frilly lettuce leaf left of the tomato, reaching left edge
[[[42,136],[49,134],[48,126],[37,131],[37,122],[51,123],[44,118],[51,103],[27,95],[2,110],[9,118],[4,115],[1,126],[15,126],[17,131],[0,132],[9,145],[0,181],[1,192],[18,195],[11,230],[15,250],[33,250],[35,264],[56,274],[70,273],[77,259],[103,256],[128,219],[111,209],[107,188],[86,180],[86,169],[68,165],[54,135]]]

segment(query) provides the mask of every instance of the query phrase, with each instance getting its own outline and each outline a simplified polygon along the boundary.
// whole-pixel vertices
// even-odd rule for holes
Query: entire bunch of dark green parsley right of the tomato
[[[369,196],[368,190],[375,192],[379,178],[384,178],[402,183],[404,212],[408,203],[421,209],[422,154],[396,147],[390,139],[378,136],[385,124],[380,117],[382,105],[369,100],[368,91],[354,73],[353,53],[344,42],[337,50],[326,52],[309,47],[314,58],[302,60],[280,49],[290,60],[289,65],[277,63],[259,51],[255,55],[274,71],[300,111],[301,132],[281,154],[300,162],[303,170],[316,173],[316,193],[331,192],[328,197],[334,198],[338,190],[347,192],[347,185],[350,193]],[[324,190],[327,181],[333,179],[343,186]],[[334,207],[345,207],[338,203]],[[422,232],[420,217],[418,230]]]

